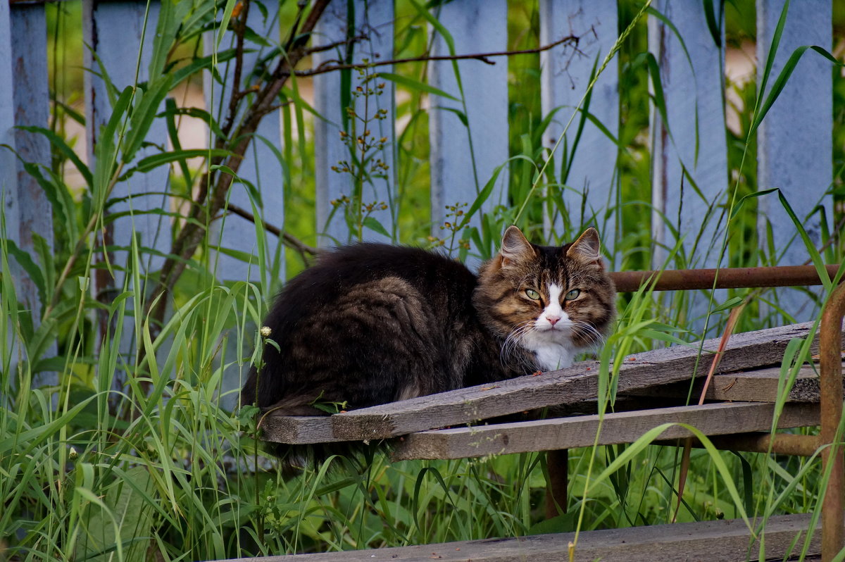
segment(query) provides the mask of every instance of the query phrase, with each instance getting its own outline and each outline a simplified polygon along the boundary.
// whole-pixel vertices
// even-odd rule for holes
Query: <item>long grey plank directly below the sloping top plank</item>
[[[687,423],[705,435],[768,431],[774,411],[774,404],[733,402],[609,413],[604,416],[598,445],[633,443],[662,423]],[[599,417],[593,415],[423,431],[399,440],[392,456],[397,461],[463,459],[589,447],[596,442],[599,423]],[[800,428],[818,423],[819,407],[815,404],[788,404],[777,427]],[[659,438],[681,439],[692,435],[685,428],[673,426]]]

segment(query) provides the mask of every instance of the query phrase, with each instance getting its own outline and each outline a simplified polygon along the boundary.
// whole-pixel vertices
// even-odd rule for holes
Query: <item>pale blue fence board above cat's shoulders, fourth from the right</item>
[[[446,3],[433,15],[455,41],[456,55],[507,50],[505,0]],[[452,54],[444,37],[436,30],[433,34],[432,54]],[[464,210],[468,210],[493,177],[494,169],[508,159],[508,62],[504,57],[496,57],[494,62],[490,65],[472,59],[459,61],[463,93],[452,61],[429,63],[430,84],[459,100],[430,96],[431,219],[435,237],[444,237],[440,226],[447,220],[449,211],[445,207],[466,204]],[[455,112],[466,115],[468,128]],[[507,170],[499,174],[481,212],[489,212],[495,205],[508,205]],[[479,216],[474,216],[470,226],[480,225]],[[498,237],[498,233],[493,235]]]

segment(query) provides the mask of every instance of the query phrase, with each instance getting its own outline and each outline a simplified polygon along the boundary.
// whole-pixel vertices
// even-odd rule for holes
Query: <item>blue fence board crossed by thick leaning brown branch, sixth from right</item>
[[[270,9],[267,18],[259,8],[253,5],[249,9],[247,25],[254,30],[259,36],[266,38],[271,44],[279,42],[279,19],[277,17],[277,9],[274,11]],[[204,35],[204,51],[206,55],[214,52],[214,41],[216,31],[209,32]],[[218,51],[223,51],[234,47],[234,34],[232,32],[226,34],[217,47]],[[243,55],[243,74],[242,85],[240,90],[246,90],[250,85],[257,83],[254,77],[249,76],[249,71],[255,68],[261,57],[266,56],[269,47],[257,44],[251,44],[247,41],[245,46],[247,49],[254,50],[254,52],[247,52]],[[224,80],[225,86],[213,79],[210,73],[204,73],[204,93],[206,106],[210,108],[210,112],[218,122],[222,123],[226,118],[228,112],[229,100],[232,95],[232,80],[234,80],[235,63],[229,61],[218,66],[217,71]],[[281,150],[281,111],[276,110],[270,112],[261,120],[259,128],[255,133],[253,142],[249,145],[246,154],[243,156],[244,161],[238,170],[238,177],[248,183],[252,183],[260,194],[260,201],[255,201],[256,206],[259,207],[259,215],[262,220],[267,223],[283,228],[285,226],[285,198],[284,198],[284,184],[282,178],[285,177],[282,170],[282,163],[276,156],[275,150],[270,148],[274,146],[276,150]],[[266,142],[265,142],[265,140]],[[269,145],[268,145],[269,144]],[[248,188],[243,183],[233,183],[229,194],[229,203],[237,205],[238,207],[253,212],[253,207],[250,202]],[[216,264],[216,275],[226,280],[233,281],[259,281],[259,246],[255,240],[256,231],[255,225],[252,221],[236,216],[226,216],[224,220],[215,221],[211,226],[210,243],[220,243],[222,248],[230,248],[243,252],[244,254],[252,255],[252,263],[237,259],[224,253],[217,253],[211,259],[212,264]],[[279,276],[281,279],[285,278],[285,254],[282,248],[279,248],[281,241],[278,237],[269,232],[266,234],[267,247],[265,249],[268,268],[272,268],[272,260],[275,258],[276,251],[279,250]]]

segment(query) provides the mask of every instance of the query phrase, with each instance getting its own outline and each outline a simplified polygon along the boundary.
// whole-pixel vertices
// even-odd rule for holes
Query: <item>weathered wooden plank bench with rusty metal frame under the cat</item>
[[[730,275],[726,278],[728,281],[722,282],[750,282],[730,281]],[[635,282],[641,282],[642,279],[643,276],[640,276]],[[675,286],[670,283],[667,288]],[[833,330],[835,340],[840,345],[837,346],[836,342],[828,345],[831,352],[836,354],[834,357],[840,367],[842,336],[845,335],[841,312],[845,307],[845,291],[842,288],[837,288],[837,297],[831,297],[830,301],[841,302],[837,305],[839,311],[831,313],[833,317],[838,314]],[[833,305],[828,308],[833,308]],[[826,317],[831,316],[828,312]],[[826,320],[828,325],[833,321]],[[270,415],[261,423],[263,439],[287,444],[390,439],[392,455],[396,460],[458,459],[549,451],[551,501],[548,501],[548,507],[553,509],[548,509],[547,515],[553,516],[554,510],[558,509],[555,504],[566,505],[565,450],[570,448],[632,443],[652,428],[665,423],[675,425],[665,428],[655,444],[679,445],[677,440],[668,443],[667,440],[691,437],[693,434],[688,429],[677,425],[680,423],[697,428],[701,434],[712,436],[712,443],[722,449],[810,456],[815,454],[820,445],[832,442],[831,438],[825,437],[824,430],[820,437],[770,434],[775,412],[773,402],[777,400],[780,374],[780,369],[771,365],[780,363],[789,341],[810,336],[813,328],[812,323],[805,323],[736,334],[728,341],[717,368],[717,376],[707,390],[706,397],[713,402],[701,406],[609,412],[603,416],[600,432],[599,416],[596,414],[478,424],[489,418],[537,408],[563,406],[565,409],[581,406],[584,409],[586,406],[586,409],[594,409],[599,365],[596,362],[585,362],[537,376],[422,396],[329,417]],[[830,330],[828,326],[828,332]],[[812,353],[815,356],[820,352],[820,337],[813,337]],[[624,364],[619,366],[618,396],[630,397],[635,405],[637,402],[642,403],[642,396],[649,396],[650,400],[685,399],[690,380],[706,374],[718,345],[719,341],[715,339],[704,341],[701,357],[699,344],[672,346],[625,357]],[[698,385],[695,390],[700,392],[701,383],[695,384]],[[838,386],[838,397],[835,396],[833,402],[838,399],[841,406],[841,370]],[[820,407],[824,394],[817,367],[802,368],[795,384],[788,390],[787,403],[778,418],[777,428],[819,425],[824,415],[831,416],[830,413],[823,414]],[[839,417],[836,416],[837,423]],[[701,444],[694,441],[693,445]],[[841,456],[839,453],[837,458]],[[557,461],[553,461],[554,458]],[[558,472],[557,477],[553,472]],[[841,496],[841,484],[837,482],[835,477],[831,478],[831,486],[837,487],[833,494]],[[835,502],[826,499],[825,504],[829,503],[836,507]],[[837,524],[826,524],[841,530],[842,508],[838,510]],[[766,557],[788,559],[789,556],[797,555],[803,539],[796,539],[802,532],[806,532],[809,525],[809,515],[770,517],[765,527]],[[835,532],[815,533],[808,554],[821,554],[824,540],[820,534],[829,539]],[[559,533],[316,556],[326,560],[532,559],[532,562],[536,562],[568,559],[572,539],[572,533]],[[746,559],[747,553],[757,552],[755,540],[741,519],[581,532],[574,559],[686,560],[704,554],[710,559]],[[799,546],[796,547],[796,544]],[[313,559],[313,556],[297,555],[293,558]]]

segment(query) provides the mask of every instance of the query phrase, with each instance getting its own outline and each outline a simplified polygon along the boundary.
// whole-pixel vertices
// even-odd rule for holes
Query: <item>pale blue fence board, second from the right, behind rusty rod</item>
[[[712,6],[718,17],[717,0]],[[649,51],[660,68],[668,121],[663,123],[660,111],[652,106],[652,265],[659,269],[668,259],[665,247],[671,249],[677,243],[672,232],[675,229],[683,237],[679,251],[685,256],[683,267],[716,267],[726,222],[721,216],[724,207],[718,205],[724,205],[728,196],[723,25],[717,21],[717,43],[708,29],[701,0],[658,0],[654,8],[678,32],[657,17],[649,17]],[[656,86],[652,84],[651,90]],[[728,265],[727,256],[721,265]],[[679,302],[678,293],[666,297]],[[703,330],[709,292],[689,292],[684,297],[690,299],[687,327]],[[726,297],[727,292],[718,291],[714,301],[720,303]],[[716,330],[715,324],[711,320],[709,330]]]

